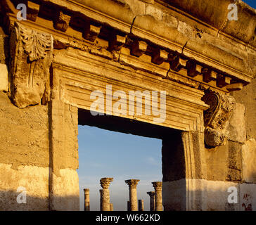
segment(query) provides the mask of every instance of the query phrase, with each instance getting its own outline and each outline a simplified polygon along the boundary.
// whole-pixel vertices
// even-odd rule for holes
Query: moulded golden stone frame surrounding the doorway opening
[[[102,65],[102,66],[101,66]],[[182,162],[181,169],[184,169],[184,174],[176,174],[176,172],[171,171],[173,168],[169,167],[168,159],[163,158],[163,205],[166,210],[172,210],[172,205],[175,205],[180,210],[202,210],[201,206],[203,203],[199,203],[200,200],[203,201],[203,197],[198,198],[200,193],[194,195],[191,190],[192,183],[195,183],[194,179],[205,179],[205,158],[204,158],[204,139],[203,139],[203,111],[208,108],[201,98],[203,97],[203,91],[198,89],[192,89],[188,86],[177,84],[161,77],[156,77],[153,75],[148,75],[144,72],[132,71],[130,68],[120,65],[115,62],[110,62],[101,58],[99,56],[91,55],[90,53],[79,51],[77,49],[66,49],[65,51],[58,51],[54,53],[53,65],[51,70],[52,85],[51,85],[51,152],[52,157],[52,167],[53,174],[56,173],[55,165],[58,165],[58,158],[54,157],[56,152],[55,149],[59,147],[59,141],[54,138],[56,135],[61,136],[61,129],[58,129],[60,122],[58,122],[59,115],[65,112],[65,108],[71,107],[73,110],[73,115],[75,116],[75,121],[77,119],[77,108],[84,110],[89,110],[91,102],[89,101],[89,93],[95,91],[94,86],[97,84],[103,91],[106,84],[113,84],[113,89],[127,90],[141,89],[147,90],[149,85],[146,82],[137,83],[136,86],[129,84],[129,77],[134,76],[134,80],[141,79],[143,77],[148,77],[148,83],[154,84],[151,89],[156,89],[160,91],[162,83],[165,82],[167,89],[167,113],[166,123],[162,127],[169,127],[172,129],[179,130],[179,150],[181,150],[180,156],[184,158]],[[128,76],[125,79],[124,76]],[[114,79],[115,77],[115,79]],[[168,85],[168,86],[167,86]],[[146,86],[143,89],[143,86]],[[150,90],[151,90],[150,89]],[[85,97],[87,96],[87,98]],[[69,106],[67,106],[69,105]],[[61,113],[62,112],[62,113]],[[65,114],[65,113],[64,113]],[[152,118],[145,116],[141,117],[129,117],[127,119],[135,119],[141,122],[149,122],[153,125]],[[51,125],[52,124],[52,125]],[[53,129],[53,124],[56,124]],[[78,124],[75,124],[77,126]],[[60,132],[60,133],[59,133]],[[57,134],[58,133],[58,134]],[[63,134],[64,135],[64,134]],[[77,134],[75,134],[74,139],[76,139]],[[59,146],[59,147],[58,147]],[[169,150],[172,149],[172,145],[169,146]],[[163,151],[164,155],[170,155],[169,150]],[[163,155],[163,157],[164,157]],[[173,158],[172,158],[173,160]],[[58,169],[58,167],[56,167]],[[179,169],[177,169],[179,172]],[[171,176],[169,174],[172,174]],[[51,210],[58,210],[57,200],[54,200],[56,195],[58,195],[58,190],[54,188],[54,178],[51,176],[51,198],[50,205]],[[57,178],[56,178],[57,179]],[[180,199],[175,197],[174,188],[169,187],[172,181],[184,179],[184,184],[180,184],[179,187],[184,190],[184,197]],[[183,180],[182,180],[183,181]],[[192,182],[192,183],[191,183]],[[171,193],[172,191],[172,193]],[[180,190],[177,190],[179,193]],[[203,192],[202,192],[203,193]],[[173,196],[173,198],[169,198]],[[199,202],[198,202],[199,201]],[[199,203],[199,204],[198,204]],[[198,208],[199,207],[199,208]]]

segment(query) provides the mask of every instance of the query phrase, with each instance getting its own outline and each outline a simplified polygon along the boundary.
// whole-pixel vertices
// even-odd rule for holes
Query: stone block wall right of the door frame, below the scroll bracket
[[[205,148],[207,180],[212,182],[216,199],[212,201],[211,195],[208,210],[255,210],[255,88],[254,79],[252,84],[245,86],[242,91],[231,93],[236,99],[236,105],[227,127],[227,141],[223,146]],[[225,202],[230,186],[238,188],[238,204]]]

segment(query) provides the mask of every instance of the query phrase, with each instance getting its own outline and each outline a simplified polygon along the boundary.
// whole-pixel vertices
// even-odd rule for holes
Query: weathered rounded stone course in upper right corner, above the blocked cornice
[[[255,27],[256,10],[245,4],[241,0],[155,0],[159,4],[164,4],[170,8],[193,16],[209,26],[215,27],[219,32],[229,34],[232,37],[240,39],[246,44],[256,46]],[[165,4],[166,3],[166,4]],[[229,13],[229,4],[236,3],[238,6],[238,20],[231,22],[227,20]],[[207,11],[207,13],[205,13]]]

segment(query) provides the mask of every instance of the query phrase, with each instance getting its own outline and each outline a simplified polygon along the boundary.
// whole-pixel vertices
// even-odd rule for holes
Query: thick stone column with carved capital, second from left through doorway
[[[110,211],[110,197],[108,186],[112,181],[113,178],[110,177],[101,178],[101,187],[103,188],[103,190],[101,191],[101,211]]]

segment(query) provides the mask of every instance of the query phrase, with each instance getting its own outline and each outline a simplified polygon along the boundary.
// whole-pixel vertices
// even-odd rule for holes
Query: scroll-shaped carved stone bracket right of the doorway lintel
[[[226,140],[226,127],[233,113],[235,99],[226,94],[207,90],[202,100],[210,105],[204,112],[205,143],[207,146],[221,146]]]

